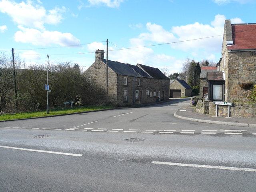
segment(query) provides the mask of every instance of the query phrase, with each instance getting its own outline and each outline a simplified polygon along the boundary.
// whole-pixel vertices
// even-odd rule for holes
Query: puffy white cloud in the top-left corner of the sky
[[[39,4],[28,0],[26,3],[16,3],[10,0],[0,1],[0,12],[8,14],[16,24],[45,30],[44,24],[58,24],[62,20],[62,14],[66,8],[55,7],[46,10],[40,1]]]

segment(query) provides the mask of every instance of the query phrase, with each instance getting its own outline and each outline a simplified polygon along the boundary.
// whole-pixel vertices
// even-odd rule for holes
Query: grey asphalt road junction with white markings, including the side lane
[[[2,122],[0,191],[256,191],[255,136],[175,118],[184,102]]]

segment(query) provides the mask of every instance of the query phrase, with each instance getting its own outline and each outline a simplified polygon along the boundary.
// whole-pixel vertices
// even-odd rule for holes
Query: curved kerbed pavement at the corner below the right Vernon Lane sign
[[[174,116],[184,120],[220,124],[220,125],[231,125],[231,126],[242,126],[256,128],[255,118],[231,118],[231,117],[210,117],[206,114],[196,113],[195,107],[189,104],[184,105],[182,108],[174,113]]]

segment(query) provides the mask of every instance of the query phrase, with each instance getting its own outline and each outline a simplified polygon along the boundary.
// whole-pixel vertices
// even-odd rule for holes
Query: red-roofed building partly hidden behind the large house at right
[[[199,96],[203,97],[205,94],[208,93],[208,82],[207,82],[207,73],[208,72],[217,72],[216,66],[202,66],[201,74],[200,74],[200,90]]]

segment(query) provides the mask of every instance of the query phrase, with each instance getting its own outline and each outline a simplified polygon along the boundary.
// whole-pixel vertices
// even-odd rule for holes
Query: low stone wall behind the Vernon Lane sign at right
[[[209,103],[209,116],[216,116],[216,105]],[[218,116],[228,117],[228,106],[218,105]],[[256,104],[233,103],[230,106],[230,117],[256,118]]]

